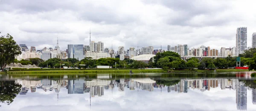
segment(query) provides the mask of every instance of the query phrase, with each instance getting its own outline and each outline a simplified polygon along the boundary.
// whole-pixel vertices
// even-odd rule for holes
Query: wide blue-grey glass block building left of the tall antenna
[[[85,57],[85,51],[84,51],[84,45],[73,45],[69,44],[67,45],[68,49],[68,58],[78,58],[79,60],[84,59]]]

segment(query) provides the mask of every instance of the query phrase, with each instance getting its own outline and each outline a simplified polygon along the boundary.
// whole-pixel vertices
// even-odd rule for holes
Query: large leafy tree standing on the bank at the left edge
[[[13,63],[15,56],[21,54],[20,47],[10,34],[0,37],[0,64],[1,68]]]

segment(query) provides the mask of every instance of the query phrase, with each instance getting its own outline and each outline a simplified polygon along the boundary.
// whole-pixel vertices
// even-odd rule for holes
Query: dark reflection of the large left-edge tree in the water
[[[11,104],[17,94],[20,93],[22,85],[15,81],[0,81],[0,102]]]

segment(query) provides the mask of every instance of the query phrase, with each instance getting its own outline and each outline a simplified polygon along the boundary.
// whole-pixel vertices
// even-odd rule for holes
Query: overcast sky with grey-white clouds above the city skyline
[[[236,46],[236,28],[256,32],[256,0],[0,0],[0,31],[37,50],[67,44],[104,47],[187,44]]]

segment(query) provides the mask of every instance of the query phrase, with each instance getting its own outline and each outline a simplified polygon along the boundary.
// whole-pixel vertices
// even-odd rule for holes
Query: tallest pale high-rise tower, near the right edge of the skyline
[[[243,54],[247,49],[247,27],[240,27],[236,30],[236,56]]]

